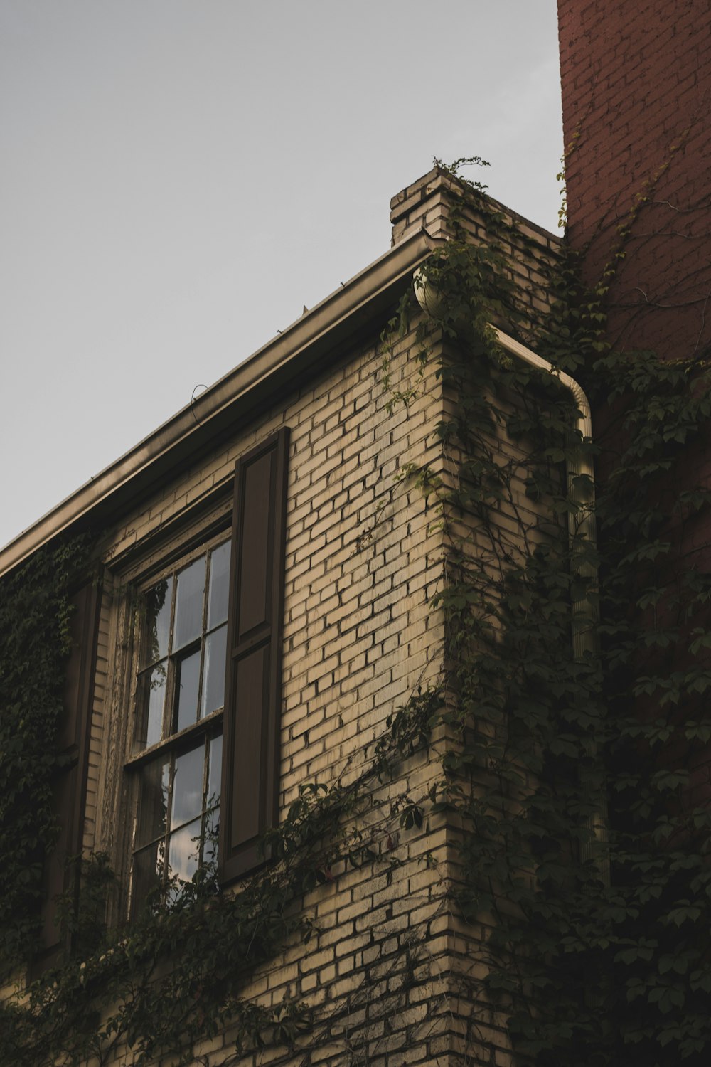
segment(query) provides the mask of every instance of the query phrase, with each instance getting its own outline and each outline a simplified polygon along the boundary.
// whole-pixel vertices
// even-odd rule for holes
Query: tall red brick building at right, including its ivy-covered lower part
[[[630,553],[630,582],[616,609],[605,605],[603,621],[614,627],[624,618],[634,650],[609,684],[617,737],[636,731],[645,739],[637,747],[620,742],[616,766],[619,771],[624,753],[623,770],[643,768],[637,791],[651,784],[639,808],[633,791],[614,796],[613,828],[620,840],[629,837],[613,885],[634,899],[620,935],[650,951],[640,966],[632,959],[636,950],[626,957],[620,945],[608,1018],[625,1057],[615,1063],[706,1064],[709,897],[706,890],[697,892],[695,870],[708,864],[711,751],[708,733],[695,734],[695,723],[706,721],[708,700],[692,675],[706,678],[709,670],[706,639],[694,642],[709,630],[709,601],[693,587],[707,583],[711,559],[704,503],[710,457],[704,404],[711,350],[711,5],[559,0],[558,6],[566,242],[583,282],[597,293],[600,341],[631,371],[612,402],[596,391],[593,425],[600,448],[598,490],[604,493],[617,478],[626,480],[629,497],[630,522],[602,532],[603,554],[615,537],[620,551]],[[682,410],[695,414],[677,428],[675,413]],[[655,464],[658,473],[645,480],[645,468]],[[659,550],[635,557],[635,544],[647,536]],[[653,610],[647,610],[652,599]],[[620,691],[623,702],[615,700]],[[657,740],[650,739],[655,729]],[[659,787],[664,776],[673,789]],[[666,830],[660,831],[662,823]],[[630,861],[635,853],[644,855],[636,867]],[[651,890],[645,866],[657,871]],[[678,899],[697,908],[697,924],[669,919]],[[688,970],[678,962],[684,953]],[[667,959],[680,975],[676,987],[665,977]]]

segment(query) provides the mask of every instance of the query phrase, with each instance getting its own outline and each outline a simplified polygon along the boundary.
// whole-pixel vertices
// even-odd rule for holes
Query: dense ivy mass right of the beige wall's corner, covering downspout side
[[[560,481],[556,490],[551,473],[593,445],[576,437],[554,395],[531,405],[543,383],[512,365],[482,324],[482,309],[490,320],[505,306],[506,264],[501,216],[479,202],[495,232],[479,284],[471,273],[462,284],[460,232],[453,255],[440,253],[432,269],[447,294],[439,325],[457,340],[441,369],[457,397],[438,428],[456,457],[441,510],[453,529],[469,516],[466,537],[451,539],[439,598],[460,735],[445,758],[439,802],[467,828],[453,894],[472,924],[494,917],[488,976],[470,993],[495,998],[514,1047],[535,1063],[701,1063],[711,989],[711,584],[701,526],[710,494],[693,472],[711,414],[709,366],[611,350],[609,278],[585,294],[575,265],[561,272],[563,299],[536,348],[555,370],[582,377],[605,413],[594,446],[599,547],[581,543],[585,505]],[[456,208],[454,220],[456,229]],[[508,321],[515,329],[516,317]],[[498,399],[505,391],[518,398],[513,417]],[[492,426],[504,421],[523,461],[502,464],[496,453]],[[572,515],[567,543],[543,538],[540,519],[520,508],[516,538],[502,539],[517,465],[550,513]],[[572,619],[581,592],[592,610]],[[575,655],[570,634],[581,624],[595,641]]]

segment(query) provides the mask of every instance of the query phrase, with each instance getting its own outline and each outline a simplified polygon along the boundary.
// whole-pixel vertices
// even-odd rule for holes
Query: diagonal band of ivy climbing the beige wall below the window
[[[0,1063],[80,1065],[92,1057],[101,1063],[128,1042],[135,1064],[169,1052],[173,1063],[188,1067],[195,1062],[195,1042],[227,1025],[237,1029],[238,1038],[225,1063],[268,1039],[292,1047],[312,1026],[308,1004],[285,1001],[262,1008],[243,999],[242,990],[260,965],[295,940],[310,940],[314,929],[303,907],[306,894],[348,867],[394,865],[387,850],[382,856],[375,837],[382,818],[420,826],[420,808],[403,794],[388,800],[378,818],[382,802],[373,790],[427,744],[438,706],[437,690],[418,691],[392,714],[351,783],[303,785],[284,822],[264,834],[262,849],[271,862],[235,894],[221,893],[216,871],[205,866],[189,883],[174,878],[130,929],[101,928],[97,938],[111,874],[106,857],[92,858],[78,924],[82,951],[31,984],[26,996],[0,1005]]]

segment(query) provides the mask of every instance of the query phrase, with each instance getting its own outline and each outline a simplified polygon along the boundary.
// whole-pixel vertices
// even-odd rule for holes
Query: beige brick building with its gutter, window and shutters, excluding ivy
[[[158,879],[190,879],[213,858],[219,825],[220,877],[239,893],[261,862],[260,833],[300,786],[348,781],[388,716],[441,679],[442,617],[429,606],[441,532],[426,498],[397,476],[425,462],[446,476],[433,430],[455,400],[437,373],[435,333],[416,394],[390,411],[379,337],[447,236],[453,186],[433,171],[403,190],[388,252],[0,554],[6,573],[66,532],[91,528],[95,544],[95,577],[76,598],[48,961],[61,947],[51,902],[64,856],[109,855],[115,927]],[[532,322],[547,308],[558,241],[508,218],[512,277]],[[473,242],[485,239],[475,207],[465,225]],[[421,319],[397,339],[391,389],[406,389],[418,366]],[[505,320],[495,324],[514,359],[545,367]],[[518,329],[523,336],[526,323]],[[514,447],[503,429],[497,447]],[[522,483],[511,492],[512,507],[535,507]],[[448,906],[453,829],[440,816],[425,835],[397,816],[397,798],[425,795],[440,773],[434,751],[403,761],[363,830],[394,871],[374,860],[314,889],[303,902],[312,940],[245,983],[242,996],[260,1005],[312,1006],[317,1021],[295,1050],[277,1042],[229,1058],[227,1025],[194,1062],[454,1064],[474,1048],[486,1057],[505,1049],[497,1017],[478,1017],[474,1036],[460,1000],[485,934]],[[107,1042],[103,1063],[132,1062],[125,1044]]]

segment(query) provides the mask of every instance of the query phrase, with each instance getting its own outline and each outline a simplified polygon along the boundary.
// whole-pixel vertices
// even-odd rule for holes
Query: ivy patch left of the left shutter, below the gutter
[[[0,583],[0,970],[37,945],[45,856],[56,837],[51,783],[70,650],[69,590],[84,537],[42,548]]]

